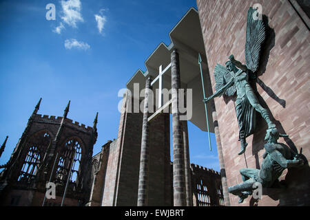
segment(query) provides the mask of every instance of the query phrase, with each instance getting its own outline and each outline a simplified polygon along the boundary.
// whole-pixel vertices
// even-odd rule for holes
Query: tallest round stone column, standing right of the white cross
[[[172,79],[172,143],[173,143],[173,188],[174,206],[186,206],[184,146],[182,123],[178,108],[178,89],[180,89],[180,66],[178,52],[171,54]]]

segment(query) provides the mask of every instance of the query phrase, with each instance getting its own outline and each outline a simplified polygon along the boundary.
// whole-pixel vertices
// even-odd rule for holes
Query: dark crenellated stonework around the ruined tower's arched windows
[[[56,133],[59,131],[62,117],[55,117],[53,115],[32,115],[31,126],[26,129],[24,143],[17,144],[15,153],[10,158],[9,166],[6,168],[6,175],[8,186],[6,186],[0,195],[0,204],[7,206],[14,201],[14,205],[17,206],[41,206],[44,198],[45,183],[50,179],[52,172],[52,166],[55,162],[55,158],[52,157],[50,164],[47,167],[47,174],[43,175],[44,170],[38,170],[36,177],[31,183],[25,183],[23,181],[17,181],[25,161],[25,157],[28,154],[30,146],[37,146],[40,155],[40,163],[47,163],[48,155],[43,158],[45,153],[48,151],[48,146],[52,145],[51,140],[54,141]],[[48,134],[48,135],[47,135]],[[46,136],[45,136],[46,135]],[[85,126],[85,124],[79,124],[79,122],[73,122],[72,120],[65,118],[63,121],[63,130],[59,134],[59,142],[56,143],[56,152],[59,153],[56,158],[56,166],[59,162],[59,157],[65,143],[70,139],[78,140],[81,145],[81,162],[79,166],[79,178],[76,179],[76,188],[73,190],[72,187],[68,187],[66,199],[72,201],[68,203],[70,206],[83,205],[87,202],[90,192],[90,175],[88,168],[90,165],[90,158],[92,156],[93,144],[96,142],[96,137],[93,136],[93,128]],[[92,140],[94,138],[94,140]],[[52,147],[50,147],[52,148]],[[19,153],[20,152],[20,153]],[[48,152],[50,153],[50,151]],[[17,157],[19,155],[19,157]],[[56,155],[56,153],[54,153]],[[40,164],[40,165],[41,165]],[[51,181],[54,181],[56,168],[52,174]],[[1,179],[2,180],[2,179]],[[83,181],[83,183],[82,183]],[[1,181],[1,184],[4,181]],[[57,198],[63,197],[64,186],[56,186]],[[42,196],[43,195],[43,196]],[[52,204],[61,204],[61,199],[56,199]],[[80,202],[80,203],[79,203]],[[16,203],[16,204],[15,204]]]

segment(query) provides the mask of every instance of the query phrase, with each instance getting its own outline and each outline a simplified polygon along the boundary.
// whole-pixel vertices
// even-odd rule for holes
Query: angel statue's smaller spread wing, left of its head
[[[229,81],[231,80],[233,76],[227,71],[227,69],[223,65],[216,64],[216,67],[214,68],[214,78],[216,80],[216,91],[224,87]],[[236,86],[233,85],[229,87],[225,91],[226,96],[234,96],[236,93]]]

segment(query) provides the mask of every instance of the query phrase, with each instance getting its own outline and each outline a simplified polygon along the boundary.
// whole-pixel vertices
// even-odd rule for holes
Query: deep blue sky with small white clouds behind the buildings
[[[45,6],[53,3],[56,20]],[[39,98],[39,113],[92,126],[99,111],[94,154],[116,138],[119,89],[141,68],[196,0],[0,1],[0,164],[8,161]],[[214,134],[189,122],[191,162],[219,170]]]

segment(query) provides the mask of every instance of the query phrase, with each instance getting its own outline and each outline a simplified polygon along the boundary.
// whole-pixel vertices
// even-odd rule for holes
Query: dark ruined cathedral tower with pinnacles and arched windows
[[[38,114],[41,99],[9,161],[1,165],[1,206],[83,206],[90,195],[90,170],[96,123],[85,126],[67,118]],[[55,199],[46,199],[54,183]],[[50,203],[52,201],[52,203]],[[44,204],[43,204],[44,203]]]

